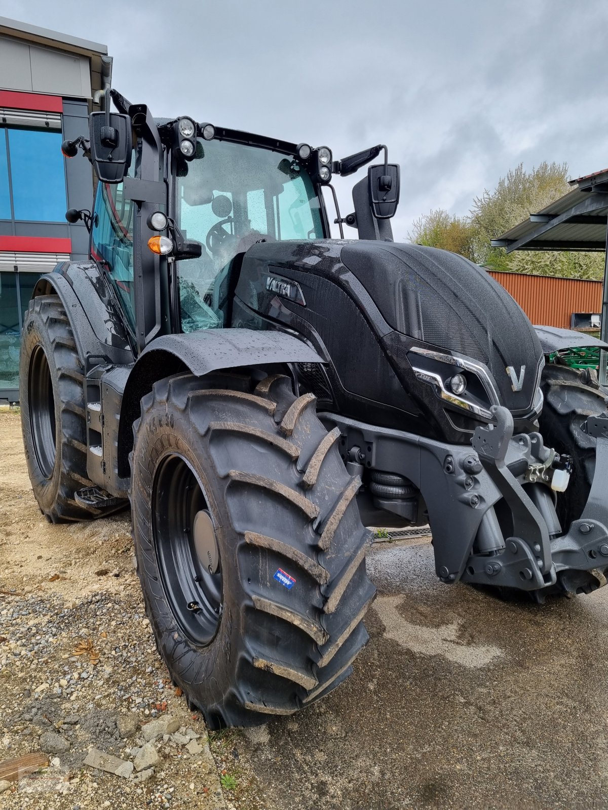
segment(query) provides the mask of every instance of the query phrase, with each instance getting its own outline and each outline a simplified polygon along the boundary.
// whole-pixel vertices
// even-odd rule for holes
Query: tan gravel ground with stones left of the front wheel
[[[238,748],[208,735],[156,653],[129,515],[49,525],[32,496],[18,414],[0,414],[0,458],[0,768],[40,751],[50,763],[11,782],[0,810],[212,810],[232,807],[235,795],[255,800]],[[155,718],[173,731],[140,754]],[[122,760],[126,776],[85,764],[91,749]]]

